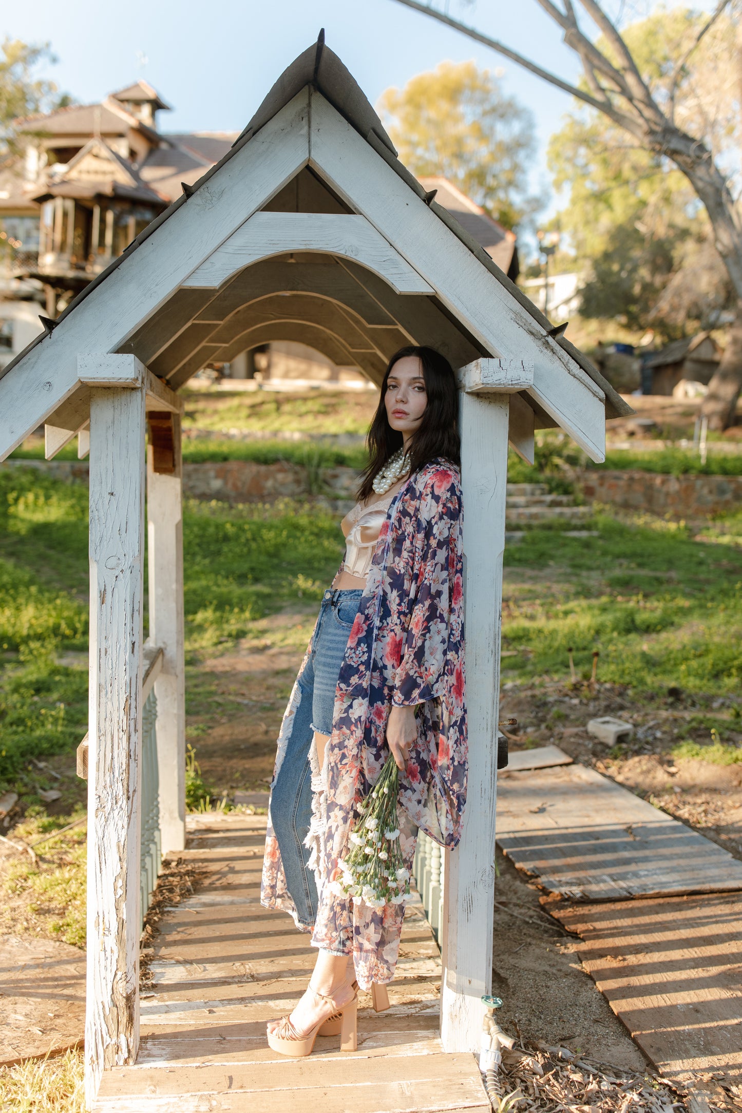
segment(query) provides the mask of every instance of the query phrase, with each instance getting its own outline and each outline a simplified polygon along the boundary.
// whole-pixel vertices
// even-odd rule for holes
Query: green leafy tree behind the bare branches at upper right
[[[702,26],[692,12],[662,11],[626,28],[623,38],[641,71],[655,85],[667,85]],[[733,28],[720,21],[699,43],[693,80],[675,90],[676,111],[703,111],[720,150],[734,137],[733,49]],[[652,325],[666,335],[686,331],[689,323],[716,323],[729,280],[706,213],[670,159],[632,142],[596,109],[578,106],[552,137],[548,161],[555,186],[570,195],[560,227],[588,274],[584,316],[617,318],[631,328]],[[681,280],[682,270],[704,278]],[[664,297],[671,283],[672,294]]]

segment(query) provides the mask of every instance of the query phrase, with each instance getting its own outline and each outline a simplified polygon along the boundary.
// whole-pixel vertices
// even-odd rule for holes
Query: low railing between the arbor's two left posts
[[[139,858],[139,889],[141,893],[141,922],[149,909],[152,893],[162,865],[160,835],[160,769],[157,759],[157,698],[155,680],[162,668],[162,650],[150,642],[145,644],[141,698],[141,853]],[[88,779],[88,736],[77,748],[77,775]],[[140,925],[141,926],[141,925]]]

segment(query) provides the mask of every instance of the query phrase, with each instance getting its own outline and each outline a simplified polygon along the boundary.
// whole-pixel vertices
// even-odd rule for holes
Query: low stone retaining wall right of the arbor
[[[742,475],[664,475],[586,470],[577,480],[588,502],[693,520],[742,506]]]

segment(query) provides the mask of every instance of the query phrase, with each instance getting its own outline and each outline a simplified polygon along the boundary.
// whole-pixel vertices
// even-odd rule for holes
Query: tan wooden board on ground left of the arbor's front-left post
[[[85,975],[85,953],[67,943],[0,938],[0,1066],[80,1044]]]

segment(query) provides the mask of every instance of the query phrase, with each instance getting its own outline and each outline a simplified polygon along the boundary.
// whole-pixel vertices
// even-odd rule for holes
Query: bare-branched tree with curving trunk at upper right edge
[[[732,183],[734,164],[719,145],[724,135],[724,112],[719,114],[718,101],[721,99],[719,92],[739,80],[736,55],[734,65],[730,65],[728,53],[724,65],[724,51],[733,50],[729,32],[732,29],[736,32],[740,0],[719,0],[713,12],[704,16],[700,24],[694,22],[698,16],[686,11],[686,46],[677,61],[669,63],[667,57],[660,55],[644,68],[632,51],[627,37],[622,35],[619,22],[609,16],[606,3],[597,0],[536,0],[538,7],[561,28],[565,43],[580,58],[583,81],[577,85],[429,3],[422,0],[397,0],[397,3],[492,47],[550,85],[572,93],[583,105],[603,114],[631,137],[636,147],[672,161],[685,176],[705,208],[716,250],[733,290],[734,323],[729,329],[724,356],[709,384],[709,394],[702,406],[702,413],[709,417],[713,429],[729,425],[742,390],[742,210]],[[623,4],[619,10],[623,12]],[[583,26],[584,17],[587,18],[587,31]],[[715,66],[715,82],[699,87],[694,96],[699,48],[711,32],[718,30],[718,26],[724,27],[728,21],[729,32]],[[690,95],[683,96],[684,90]]]

